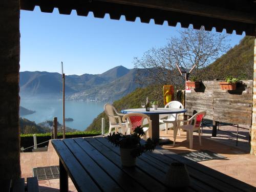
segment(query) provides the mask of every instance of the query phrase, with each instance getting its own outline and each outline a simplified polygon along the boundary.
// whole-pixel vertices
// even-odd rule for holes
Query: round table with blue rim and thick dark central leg
[[[164,144],[170,141],[169,139],[159,137],[159,115],[185,113],[186,111],[187,111],[186,109],[176,109],[176,108],[157,108],[157,110],[154,110],[154,108],[151,108],[150,111],[146,111],[145,108],[121,110],[121,112],[124,114],[144,113],[146,115],[149,115],[150,119],[152,120],[152,139],[159,140],[159,144]]]

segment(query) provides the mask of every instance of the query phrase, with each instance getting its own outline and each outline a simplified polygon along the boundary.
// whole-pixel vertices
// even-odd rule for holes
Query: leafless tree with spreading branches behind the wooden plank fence
[[[168,39],[167,45],[151,49],[142,58],[134,58],[138,70],[137,81],[148,84],[173,84],[179,88],[184,83],[176,67],[192,72],[196,77],[198,70],[208,66],[230,48],[228,35],[192,28],[179,31],[179,37]]]

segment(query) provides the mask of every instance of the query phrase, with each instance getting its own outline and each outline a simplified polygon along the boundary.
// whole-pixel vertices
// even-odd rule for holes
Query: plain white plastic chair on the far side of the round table
[[[175,109],[183,109],[183,105],[181,102],[179,101],[170,101],[168,102],[164,108],[175,108]],[[178,120],[178,114],[174,113],[174,114],[168,114],[167,119],[159,119],[160,123],[165,123],[165,133],[168,133],[168,124],[173,124],[173,129],[175,130],[175,127],[177,126],[177,120]],[[179,135],[180,135],[180,129],[178,129],[179,131]]]

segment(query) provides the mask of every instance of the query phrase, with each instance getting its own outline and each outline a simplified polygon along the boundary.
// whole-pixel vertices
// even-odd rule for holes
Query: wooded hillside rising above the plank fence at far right
[[[244,37],[239,45],[200,71],[203,80],[224,79],[231,75],[240,79],[253,79],[254,37]]]

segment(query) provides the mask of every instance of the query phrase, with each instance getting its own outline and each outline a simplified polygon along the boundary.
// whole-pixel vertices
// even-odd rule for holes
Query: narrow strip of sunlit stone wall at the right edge
[[[254,41],[253,102],[251,125],[251,154],[256,155],[256,38]]]

